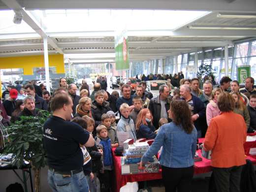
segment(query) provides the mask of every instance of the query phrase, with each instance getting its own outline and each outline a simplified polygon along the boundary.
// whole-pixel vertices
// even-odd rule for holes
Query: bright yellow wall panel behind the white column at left
[[[48,57],[49,66],[55,66],[56,73],[65,73],[63,55],[49,55]],[[0,58],[0,69],[23,68],[24,75],[33,75],[34,67],[44,67],[43,55]]]

